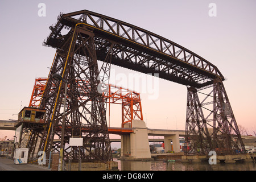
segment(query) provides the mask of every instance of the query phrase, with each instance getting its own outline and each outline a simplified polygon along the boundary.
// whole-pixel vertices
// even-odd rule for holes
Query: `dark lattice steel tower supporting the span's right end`
[[[201,101],[199,99],[199,94]],[[207,113],[206,117],[204,113]],[[245,146],[221,80],[206,88],[188,88],[185,129],[188,155],[245,153]]]

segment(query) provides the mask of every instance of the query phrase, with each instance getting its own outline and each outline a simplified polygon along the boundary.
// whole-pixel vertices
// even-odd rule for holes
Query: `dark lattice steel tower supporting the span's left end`
[[[100,80],[93,37],[91,30],[77,26],[73,35],[67,38],[67,43],[57,51],[40,104],[41,108],[48,110],[51,122],[44,130],[39,150],[49,154],[52,148],[57,148],[53,139],[55,135],[61,138],[62,122],[65,122],[64,146],[70,137],[84,140],[82,147],[72,147],[72,153],[70,147],[64,148],[64,160],[69,155],[73,160],[113,160],[104,98],[97,90]],[[54,73],[63,75],[68,81],[65,121],[61,108],[65,84],[54,80]]]

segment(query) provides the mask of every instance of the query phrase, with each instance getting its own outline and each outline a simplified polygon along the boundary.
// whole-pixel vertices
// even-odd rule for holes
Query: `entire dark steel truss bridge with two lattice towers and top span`
[[[49,28],[51,33],[43,44],[55,48],[56,54],[38,105],[48,112],[47,124],[42,131],[31,130],[40,137],[39,150],[47,156],[52,148],[61,148],[53,142],[55,136],[63,137],[64,146],[70,137],[82,137],[82,147],[64,148],[64,160],[71,152],[72,160],[112,160],[107,97],[97,89],[103,83],[108,90],[112,64],[187,86],[187,155],[205,155],[211,150],[245,152],[224,76],[203,57],[143,28],[88,10],[60,14]],[[98,60],[103,63],[100,68]],[[68,85],[66,110],[62,107],[65,83],[53,79],[56,73]],[[59,126],[64,126],[64,135]],[[32,138],[28,146],[36,146]]]

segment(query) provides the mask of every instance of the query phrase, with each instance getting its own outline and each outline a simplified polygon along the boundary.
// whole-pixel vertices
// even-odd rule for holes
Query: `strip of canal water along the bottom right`
[[[256,171],[253,162],[236,162],[234,164],[217,163],[210,165],[208,162],[181,163],[152,161],[118,160],[119,171]]]

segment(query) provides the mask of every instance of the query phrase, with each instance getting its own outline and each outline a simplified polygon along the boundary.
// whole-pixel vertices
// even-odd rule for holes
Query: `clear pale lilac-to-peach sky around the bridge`
[[[39,16],[39,3],[46,16]],[[212,6],[216,5],[214,15]],[[42,46],[57,15],[90,10],[142,27],[190,49],[220,69],[238,125],[256,132],[256,2],[245,1],[0,1],[0,120],[17,119],[27,106],[36,77],[47,77],[55,49]],[[135,72],[113,67],[115,78]],[[185,130],[186,86],[159,80],[158,97],[141,92],[150,129]],[[121,125],[121,106],[112,105],[110,126]],[[0,130],[0,138],[13,131]]]

